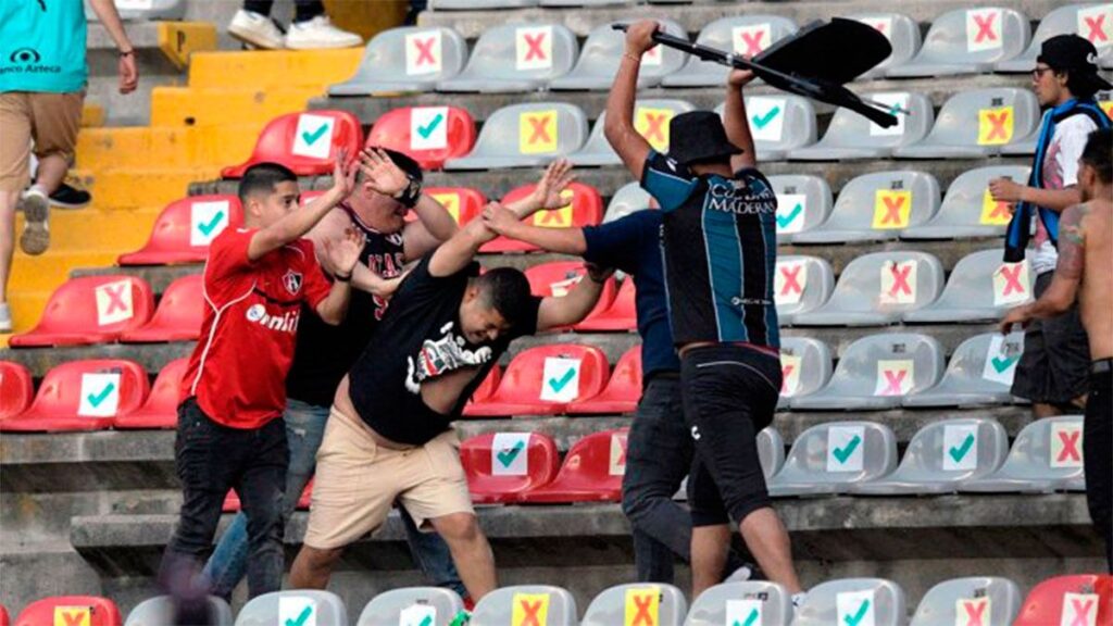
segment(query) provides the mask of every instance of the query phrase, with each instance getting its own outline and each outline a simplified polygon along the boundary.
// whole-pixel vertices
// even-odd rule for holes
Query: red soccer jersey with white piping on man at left
[[[302,303],[316,309],[328,295],[313,243],[298,239],[252,263],[254,229],[227,228],[205,264],[205,320],[181,382],[181,399],[197,397],[213,420],[259,428],[286,408],[286,372]]]

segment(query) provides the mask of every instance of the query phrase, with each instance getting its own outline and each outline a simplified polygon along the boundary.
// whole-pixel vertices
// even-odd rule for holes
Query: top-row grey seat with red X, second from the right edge
[[[948,11],[932,22],[919,53],[886,72],[889,78],[981,74],[1024,51],[1032,38],[1028,18],[1002,7]]]

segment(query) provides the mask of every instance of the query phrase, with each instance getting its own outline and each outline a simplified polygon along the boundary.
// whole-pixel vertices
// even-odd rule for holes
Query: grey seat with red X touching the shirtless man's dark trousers
[[[1077,489],[1082,477],[1082,415],[1061,415],[1024,427],[1001,469],[959,491],[1046,493]]]

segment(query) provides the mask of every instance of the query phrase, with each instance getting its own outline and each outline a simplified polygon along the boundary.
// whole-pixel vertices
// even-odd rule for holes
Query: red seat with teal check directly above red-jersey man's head
[[[321,176],[333,173],[338,149],[346,149],[348,158],[354,158],[362,147],[363,127],[347,111],[292,113],[266,125],[246,163],[226,167],[220,174],[225,178],[240,178],[248,167],[272,162],[285,165],[298,176]]]

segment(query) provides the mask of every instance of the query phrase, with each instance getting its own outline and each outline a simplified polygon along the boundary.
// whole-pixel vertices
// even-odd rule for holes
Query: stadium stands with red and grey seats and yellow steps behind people
[[[304,190],[323,189],[337,149],[391,147],[431,169],[426,192],[466,223],[568,156],[569,205],[535,224],[654,208],[601,134],[622,51],[610,25],[629,21],[632,2],[431,0],[418,27],[365,50],[308,52],[230,50],[219,29],[235,3],[117,2],[136,20],[140,105],[108,95],[108,39],[91,26],[89,118],[100,124],[82,129],[76,174],[95,202],[55,212],[48,254],[17,254],[17,333],[0,335],[0,603],[18,626],[165,620],[152,576],[180,502],[177,382],[198,332],[200,264],[243,221],[235,178],[247,165],[283,160]],[[636,11],[751,53],[833,6],[657,0]],[[785,384],[760,452],[814,586],[807,604],[794,619],[785,590],[766,583],[700,598],[613,587],[633,573],[615,502],[641,390],[633,282],[620,276],[583,322],[515,342],[457,422],[502,583],[554,585],[506,587],[473,624],[529,624],[533,610],[569,626],[639,624],[642,610],[662,626],[1113,624],[1113,580],[1060,577],[1103,563],[1080,493],[1081,418],[1032,422],[1008,393],[1023,336],[993,322],[1031,297],[1035,276],[1027,262],[1001,262],[1008,212],[986,190],[1027,177],[1040,111],[1024,72],[1038,43],[1076,31],[1113,67],[1113,4],[848,0],[838,14],[893,42],[850,87],[910,111],[898,126],[747,88],[779,198],[785,326]],[[664,150],[673,115],[721,104],[725,72],[671,50],[643,66],[636,121]],[[539,294],[583,274],[579,260],[501,238],[483,253],[484,265],[528,271]],[[237,505],[233,495],[226,511]],[[295,513],[290,550],[304,530]],[[296,624],[305,610],[321,626],[446,623],[463,606],[454,594],[398,589],[422,584],[403,538],[392,517],[355,546],[336,595],[237,596],[236,610],[214,600],[216,623]]]

